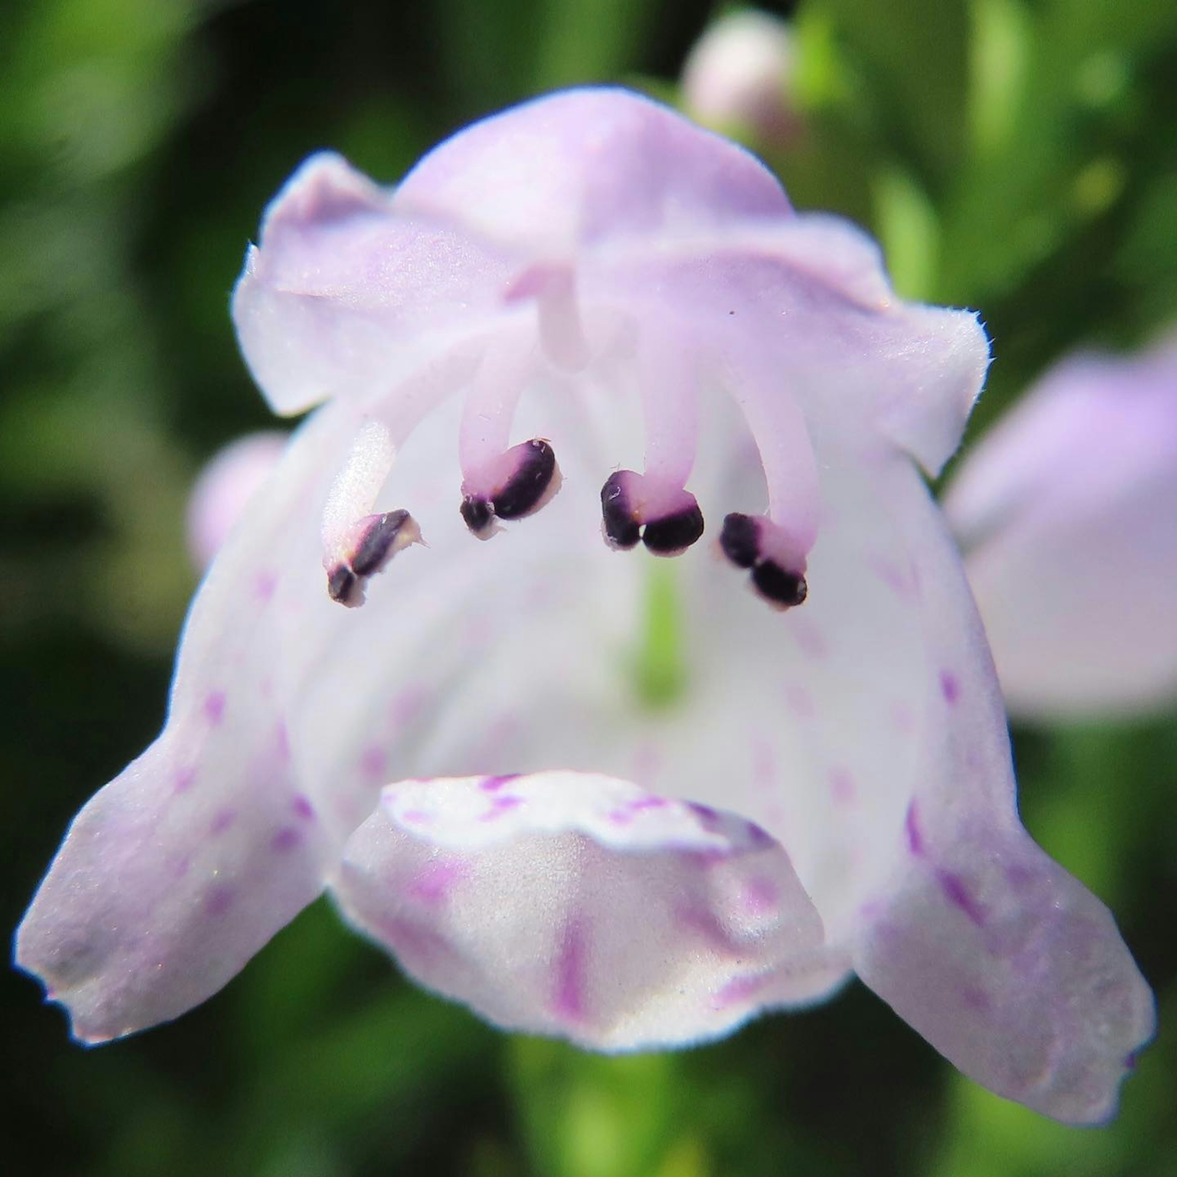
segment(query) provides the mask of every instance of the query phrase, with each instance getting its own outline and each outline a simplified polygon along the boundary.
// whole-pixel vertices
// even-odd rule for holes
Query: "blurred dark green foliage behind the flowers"
[[[771,6],[766,6],[770,7]],[[1080,343],[1177,322],[1172,0],[804,0],[800,207],[982,311],[972,431]],[[777,12],[784,12],[777,7]],[[164,714],[199,464],[268,424],[227,298],[264,202],[333,146],[394,180],[554,86],[676,100],[701,0],[6,0],[0,7],[0,924]],[[1110,607],[1131,607],[1110,601]],[[1177,1016],[1177,723],[1018,730],[1031,832]],[[0,1165],[49,1175],[1177,1175],[1177,1048],[1110,1128],[960,1078],[862,986],[718,1045],[600,1058],[401,980],[325,903],[175,1025],[72,1045],[2,977]]]

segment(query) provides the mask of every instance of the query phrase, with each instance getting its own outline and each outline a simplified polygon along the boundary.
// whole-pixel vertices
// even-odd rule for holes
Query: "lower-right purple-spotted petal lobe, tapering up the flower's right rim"
[[[910,472],[886,494],[942,670],[890,876],[862,892],[855,967],[999,1095],[1068,1123],[1105,1119],[1151,1037],[1152,995],[1104,905],[1018,824],[1002,703],[951,540]]]

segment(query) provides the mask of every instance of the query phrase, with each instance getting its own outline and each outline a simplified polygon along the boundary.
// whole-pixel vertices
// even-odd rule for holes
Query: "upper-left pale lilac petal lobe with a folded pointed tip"
[[[503,313],[518,264],[460,228],[394,214],[338,155],[312,155],[262,219],[233,292],[241,351],[271,407],[387,392]]]

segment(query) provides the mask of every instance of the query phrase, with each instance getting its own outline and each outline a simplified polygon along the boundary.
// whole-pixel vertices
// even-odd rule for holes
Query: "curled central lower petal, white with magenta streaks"
[[[423,984],[599,1049],[714,1037],[845,976],[776,842],[599,774],[392,785],[333,890]]]

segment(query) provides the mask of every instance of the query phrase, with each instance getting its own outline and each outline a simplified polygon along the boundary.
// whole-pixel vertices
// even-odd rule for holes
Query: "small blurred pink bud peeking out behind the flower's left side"
[[[200,471],[188,499],[188,553],[204,571],[286,451],[280,430],[231,441]]]

